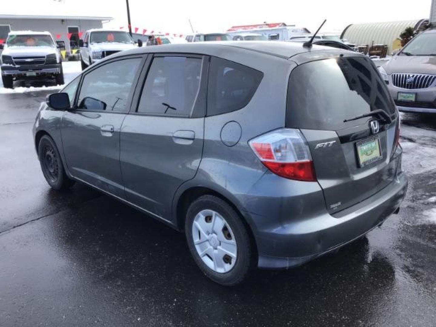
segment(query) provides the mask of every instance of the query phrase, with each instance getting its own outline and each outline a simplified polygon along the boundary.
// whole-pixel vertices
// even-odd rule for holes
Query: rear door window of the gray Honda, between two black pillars
[[[191,117],[199,95],[202,62],[201,58],[153,58],[137,111]]]

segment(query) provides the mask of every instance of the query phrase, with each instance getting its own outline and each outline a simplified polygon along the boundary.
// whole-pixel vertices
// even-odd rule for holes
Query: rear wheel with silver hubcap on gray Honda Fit
[[[235,209],[220,198],[203,195],[189,206],[185,235],[194,261],[215,283],[241,283],[254,267],[247,228]]]

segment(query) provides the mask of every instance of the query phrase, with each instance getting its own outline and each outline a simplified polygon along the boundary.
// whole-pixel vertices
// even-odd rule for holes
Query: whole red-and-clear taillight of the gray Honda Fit
[[[298,129],[278,129],[249,142],[270,171],[296,181],[316,181],[309,146]]]

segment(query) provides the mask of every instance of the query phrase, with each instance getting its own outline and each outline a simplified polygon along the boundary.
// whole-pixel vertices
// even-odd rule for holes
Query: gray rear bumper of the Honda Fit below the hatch
[[[398,173],[394,181],[370,198],[334,215],[287,222],[279,228],[255,233],[260,268],[299,266],[365,235],[381,225],[400,206],[408,180]],[[257,235],[256,235],[257,234]]]

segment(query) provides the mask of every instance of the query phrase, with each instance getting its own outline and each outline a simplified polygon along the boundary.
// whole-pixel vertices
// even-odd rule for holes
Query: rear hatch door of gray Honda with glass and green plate
[[[298,66],[290,75],[287,107],[286,127],[299,128],[305,136],[330,213],[392,182],[398,114],[368,58],[330,58]],[[376,110],[383,115],[374,114]]]

